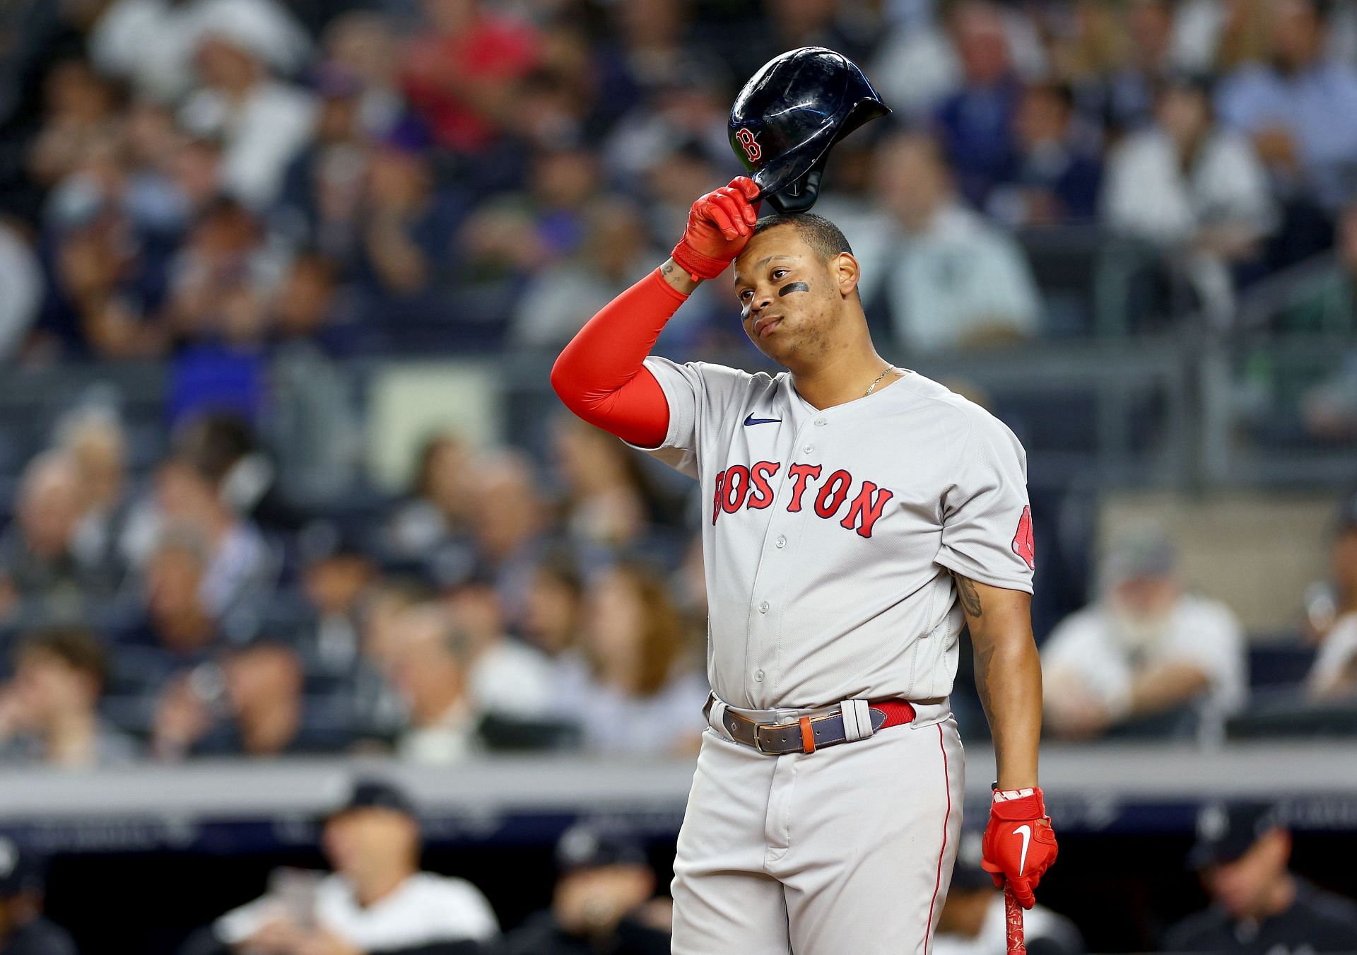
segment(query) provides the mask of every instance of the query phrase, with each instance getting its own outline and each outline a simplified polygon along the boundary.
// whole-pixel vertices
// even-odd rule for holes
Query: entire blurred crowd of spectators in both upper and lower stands
[[[779,50],[843,50],[894,107],[818,210],[906,355],[1071,332],[1033,231],[1121,236],[1221,316],[1335,222],[1357,270],[1357,128],[1333,122],[1357,114],[1357,4],[61,0],[5,5],[0,37],[0,353],[172,369],[149,460],[72,400],[15,475],[5,760],[691,749],[687,488],[562,414],[544,448],[433,434],[403,496],[356,494],[341,369],[551,354],[738,172],[731,94]],[[1346,327],[1341,275],[1303,292],[1297,323]],[[729,354],[730,313],[708,285],[661,347]],[[1341,433],[1357,389],[1326,388]],[[1333,541],[1296,692],[1350,723],[1357,506]],[[1172,540],[1086,556],[1092,602],[1038,619],[1050,731],[1244,715],[1247,640]]]

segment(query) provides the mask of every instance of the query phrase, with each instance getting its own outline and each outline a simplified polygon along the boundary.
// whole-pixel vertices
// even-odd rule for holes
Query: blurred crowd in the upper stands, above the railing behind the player
[[[801,45],[894,109],[822,212],[911,353],[1091,331],[1038,290],[1042,229],[1139,250],[1136,327],[1167,286],[1228,321],[1357,180],[1352,3],[20,0],[0,37],[0,357],[167,357],[179,400],[254,412],[278,361],[569,339],[738,172],[733,92]],[[1286,321],[1350,327],[1305,298]],[[666,346],[738,345],[730,311]]]

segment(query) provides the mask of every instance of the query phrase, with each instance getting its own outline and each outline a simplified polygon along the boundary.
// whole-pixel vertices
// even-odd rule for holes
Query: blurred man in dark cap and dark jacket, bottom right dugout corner
[[[1357,951],[1357,905],[1292,874],[1291,845],[1291,832],[1273,806],[1202,807],[1187,863],[1212,903],[1174,925],[1164,951]]]

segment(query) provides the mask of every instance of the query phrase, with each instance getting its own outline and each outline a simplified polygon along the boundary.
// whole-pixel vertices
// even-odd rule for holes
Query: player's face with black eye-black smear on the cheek
[[[803,362],[829,350],[843,304],[832,262],[791,225],[756,235],[735,259],[745,334],[778,364]]]

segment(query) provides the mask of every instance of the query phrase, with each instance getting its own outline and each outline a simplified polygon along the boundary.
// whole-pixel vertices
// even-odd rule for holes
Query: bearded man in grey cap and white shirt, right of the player
[[[1224,604],[1183,593],[1163,532],[1115,537],[1101,570],[1102,596],[1041,651],[1050,731],[1172,734],[1236,711],[1247,693],[1239,623]]]

